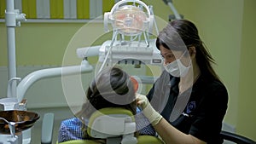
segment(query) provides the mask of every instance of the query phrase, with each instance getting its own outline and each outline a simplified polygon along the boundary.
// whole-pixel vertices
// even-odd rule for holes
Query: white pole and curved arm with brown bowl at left
[[[93,71],[93,67],[90,66],[87,60],[83,60],[81,65],[78,66],[47,68],[31,72],[25,78],[17,78],[15,27],[20,26],[20,21],[25,20],[26,14],[20,14],[20,10],[15,9],[15,1],[6,0],[5,23],[7,26],[9,82],[7,97],[0,99],[0,143],[3,144],[31,143],[31,127],[38,120],[39,116],[35,112],[26,111],[27,101],[24,99],[24,96],[26,90],[29,89],[32,84],[43,78],[61,77]],[[17,83],[17,81],[19,83]],[[21,126],[19,127],[19,125]]]

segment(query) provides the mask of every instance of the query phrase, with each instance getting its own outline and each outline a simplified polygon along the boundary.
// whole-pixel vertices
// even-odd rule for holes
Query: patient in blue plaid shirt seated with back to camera
[[[86,131],[88,119],[93,112],[105,107],[124,107],[130,110],[135,115],[137,134],[155,135],[154,128],[136,106],[135,89],[130,76],[118,67],[108,67],[102,70],[87,89],[86,98],[87,101],[74,118],[61,122],[59,143],[93,139]]]

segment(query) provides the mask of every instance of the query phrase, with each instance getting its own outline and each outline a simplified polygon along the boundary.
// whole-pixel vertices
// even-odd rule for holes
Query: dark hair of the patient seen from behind
[[[86,93],[87,100],[76,116],[90,118],[96,110],[105,107],[123,107],[136,114],[135,90],[130,76],[119,67],[107,67],[96,75]],[[86,130],[84,138],[88,139]]]

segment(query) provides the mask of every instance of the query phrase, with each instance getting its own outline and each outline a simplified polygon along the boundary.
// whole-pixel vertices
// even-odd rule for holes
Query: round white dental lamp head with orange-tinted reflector
[[[133,5],[125,5],[129,2]],[[110,21],[115,32],[126,36],[136,36],[152,30],[153,20],[154,15],[151,14],[148,6],[138,0],[119,1],[110,12],[104,14],[105,31],[108,32],[108,21]]]

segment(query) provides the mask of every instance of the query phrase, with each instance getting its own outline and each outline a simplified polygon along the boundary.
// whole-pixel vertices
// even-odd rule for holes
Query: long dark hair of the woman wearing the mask
[[[180,38],[183,43],[180,42]],[[156,40],[156,47],[158,49],[160,49],[160,45],[163,45],[166,49],[184,50],[181,49],[182,44],[184,44],[188,50],[191,46],[195,47],[195,59],[202,75],[220,81],[217,73],[212,68],[212,64],[215,64],[215,60],[212,58],[205,44],[201,41],[198,30],[191,21],[172,20],[160,32]]]

